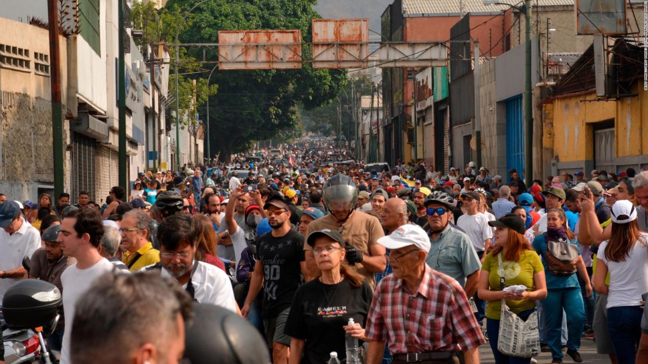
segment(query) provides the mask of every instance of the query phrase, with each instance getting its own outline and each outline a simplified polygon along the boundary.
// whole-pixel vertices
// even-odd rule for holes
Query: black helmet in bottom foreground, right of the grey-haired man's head
[[[257,329],[235,313],[194,303],[185,324],[185,359],[192,364],[270,364],[266,342]]]

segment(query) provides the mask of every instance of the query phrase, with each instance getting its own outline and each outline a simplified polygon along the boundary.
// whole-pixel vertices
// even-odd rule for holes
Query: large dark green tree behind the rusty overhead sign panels
[[[167,8],[190,8],[194,0],[170,0]],[[181,32],[187,43],[214,43],[218,30],[299,29],[310,41],[315,0],[210,0],[193,11],[191,25]],[[303,47],[303,53],[310,52]],[[216,49],[189,48],[196,59],[217,60]],[[211,96],[210,134],[214,152],[227,161],[232,153],[250,148],[254,141],[286,136],[297,130],[297,106],[313,109],[330,102],[347,80],[341,70],[301,69],[214,71],[218,94]],[[290,137],[288,138],[290,140]]]

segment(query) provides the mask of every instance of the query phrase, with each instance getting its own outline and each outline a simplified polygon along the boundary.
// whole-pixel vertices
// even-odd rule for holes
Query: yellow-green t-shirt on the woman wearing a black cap
[[[502,255],[502,264],[504,268],[505,286],[515,286],[524,284],[527,287],[527,292],[533,292],[533,275],[535,273],[544,271],[544,266],[540,261],[540,256],[533,250],[526,250],[520,254],[518,262],[511,262],[504,260]],[[501,291],[500,289],[500,274],[498,273],[498,259],[489,253],[481,265],[481,270],[488,272],[488,282],[491,286],[491,291]],[[485,273],[481,273],[485,274]],[[535,307],[535,302],[531,300],[512,301],[506,300],[507,306],[513,313],[520,313],[526,310],[531,310]],[[499,320],[500,310],[502,309],[502,301],[488,301],[486,303],[486,317],[489,319]]]

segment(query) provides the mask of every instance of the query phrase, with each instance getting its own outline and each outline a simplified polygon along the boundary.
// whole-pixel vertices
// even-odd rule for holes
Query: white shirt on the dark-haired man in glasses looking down
[[[236,313],[237,302],[234,299],[232,283],[225,272],[216,266],[198,260],[194,260],[194,264],[198,264],[194,275],[191,276],[194,299],[200,303],[215,304]],[[161,277],[172,278],[167,269],[161,269],[160,274]],[[187,284],[184,284],[182,288],[186,290]]]

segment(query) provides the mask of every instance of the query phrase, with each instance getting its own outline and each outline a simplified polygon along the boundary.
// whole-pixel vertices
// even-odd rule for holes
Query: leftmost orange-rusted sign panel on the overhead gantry
[[[301,30],[220,30],[218,69],[301,68]]]

